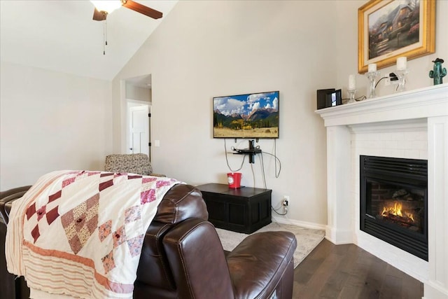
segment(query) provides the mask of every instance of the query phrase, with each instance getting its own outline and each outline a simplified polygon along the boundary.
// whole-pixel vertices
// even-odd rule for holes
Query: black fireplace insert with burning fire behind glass
[[[360,230],[428,260],[428,161],[360,155]]]

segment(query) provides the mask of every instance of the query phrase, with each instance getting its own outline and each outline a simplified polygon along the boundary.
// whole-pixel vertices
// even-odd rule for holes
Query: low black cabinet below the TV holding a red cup
[[[207,183],[197,186],[207,204],[209,221],[216,228],[250,234],[271,223],[270,189]]]

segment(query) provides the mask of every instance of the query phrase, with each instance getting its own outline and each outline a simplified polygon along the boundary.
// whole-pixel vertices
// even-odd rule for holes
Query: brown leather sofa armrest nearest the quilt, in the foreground
[[[234,298],[223,246],[214,225],[183,221],[163,239],[178,298]]]

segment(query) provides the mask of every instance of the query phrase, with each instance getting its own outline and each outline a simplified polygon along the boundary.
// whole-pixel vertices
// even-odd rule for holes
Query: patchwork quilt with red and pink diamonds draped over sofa
[[[146,229],[174,179],[111,172],[45,174],[13,202],[8,271],[75,298],[132,298]]]

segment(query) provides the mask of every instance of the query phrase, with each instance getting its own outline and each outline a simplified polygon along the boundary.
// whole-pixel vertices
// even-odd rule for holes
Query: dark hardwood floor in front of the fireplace
[[[421,297],[420,281],[353,244],[323,239],[294,270],[293,298]]]

